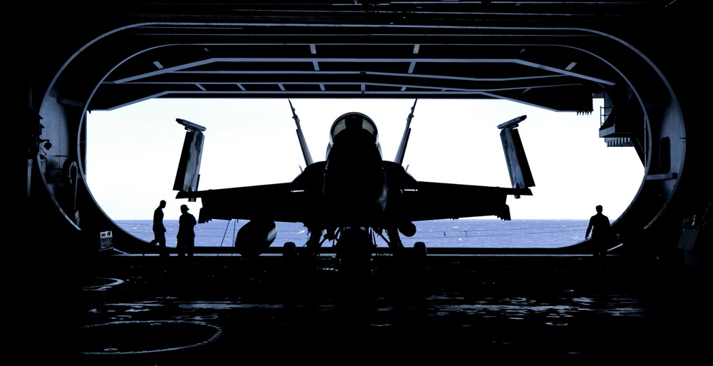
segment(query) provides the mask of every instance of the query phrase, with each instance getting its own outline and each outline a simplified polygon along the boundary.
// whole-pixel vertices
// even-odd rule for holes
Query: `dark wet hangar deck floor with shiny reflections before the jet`
[[[694,360],[697,280],[621,258],[377,258],[347,274],[279,257],[103,258],[66,293],[82,365]],[[65,337],[66,336],[66,337]]]

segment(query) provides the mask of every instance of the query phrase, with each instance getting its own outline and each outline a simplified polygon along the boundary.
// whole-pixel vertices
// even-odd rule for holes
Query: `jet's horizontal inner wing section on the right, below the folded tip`
[[[480,216],[510,220],[508,195],[532,195],[532,191],[530,188],[419,182],[415,190],[404,190],[396,210],[413,221]]]

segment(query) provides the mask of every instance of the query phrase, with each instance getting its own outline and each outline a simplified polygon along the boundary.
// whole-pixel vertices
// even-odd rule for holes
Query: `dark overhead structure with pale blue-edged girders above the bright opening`
[[[182,29],[189,27],[181,26]],[[573,97],[579,93],[547,90],[559,87],[571,90],[577,86],[579,90],[590,88],[592,94],[597,94],[605,86],[617,83],[612,78],[616,75],[602,69],[602,62],[596,57],[567,44],[543,42],[550,36],[548,31],[540,31],[537,37],[512,30],[496,35],[491,29],[484,31],[487,35],[473,29],[463,34],[437,36],[379,34],[376,37],[379,41],[371,36],[371,43],[365,39],[369,36],[350,35],[336,43],[333,38],[318,35],[325,31],[319,26],[302,26],[309,31],[302,31],[303,27],[291,32],[282,29],[284,33],[279,41],[272,35],[252,34],[241,37],[240,41],[222,39],[221,44],[211,31],[205,31],[203,36],[191,34],[190,42],[183,41],[183,34],[160,38],[163,43],[147,43],[142,39],[133,43],[137,44],[135,56],[121,60],[120,66],[103,81],[89,108],[116,108],[130,103],[131,96],[140,101],[155,97],[309,95],[507,98],[558,111],[582,111],[583,106],[589,104],[587,93],[583,95],[585,101],[575,101]],[[210,24],[195,27],[210,29]],[[274,31],[279,27],[270,28]],[[143,29],[144,26],[131,29],[130,38],[135,37],[134,31]],[[443,29],[438,31],[443,32]],[[591,43],[590,38],[595,38],[591,34],[583,36],[585,33],[581,30],[571,32],[575,36],[566,36],[565,31],[557,30],[553,37],[560,42],[563,39],[573,42],[570,38],[588,39],[588,43]],[[446,36],[457,42],[443,44]],[[519,42],[513,40],[518,37]],[[539,42],[528,44],[533,39]],[[116,42],[127,44],[121,40]],[[573,71],[575,67],[578,69]],[[545,91],[544,97],[533,96],[540,91]],[[550,98],[553,93],[558,93],[560,98]],[[567,106],[567,101],[573,101],[573,106]]]

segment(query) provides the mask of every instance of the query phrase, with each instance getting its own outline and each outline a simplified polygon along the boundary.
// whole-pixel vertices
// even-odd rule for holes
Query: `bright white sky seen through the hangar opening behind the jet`
[[[602,205],[610,220],[632,202],[644,168],[632,147],[599,137],[600,106],[591,114],[555,112],[504,100],[419,99],[404,156],[417,181],[511,187],[497,126],[527,116],[518,131],[535,186],[508,196],[513,220],[585,220]],[[371,117],[384,160],[394,161],[414,99],[293,99],[314,161],[323,161],[329,127],[347,112]],[[204,126],[199,190],[287,183],[304,168],[287,99],[151,99],[87,118],[86,182],[113,220],[150,220],[166,200],[165,220],[200,199],[173,190],[185,129]],[[485,218],[496,218],[488,216]]]

